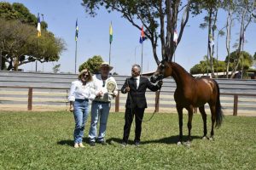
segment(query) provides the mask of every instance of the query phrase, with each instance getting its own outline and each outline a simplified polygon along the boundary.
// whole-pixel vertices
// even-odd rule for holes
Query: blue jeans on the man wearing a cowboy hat
[[[91,104],[91,122],[90,122],[90,132],[89,138],[90,142],[96,141],[96,133],[97,133],[97,123],[100,120],[100,130],[97,140],[99,142],[103,141],[106,134],[108,115],[110,110],[110,103],[103,103],[93,101]]]

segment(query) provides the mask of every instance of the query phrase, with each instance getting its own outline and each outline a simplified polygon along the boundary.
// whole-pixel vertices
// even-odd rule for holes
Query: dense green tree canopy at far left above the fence
[[[20,65],[60,59],[65,42],[46,30],[37,37],[37,19],[20,3],[0,3],[0,63],[1,69],[18,70]]]

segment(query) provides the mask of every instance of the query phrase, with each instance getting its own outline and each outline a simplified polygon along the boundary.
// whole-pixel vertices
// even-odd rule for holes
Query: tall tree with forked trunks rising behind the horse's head
[[[158,39],[161,42],[162,59],[172,60],[172,56],[181,41],[184,27],[189,20],[189,10],[192,0],[183,4],[181,0],[83,0],[82,3],[85,13],[90,16],[96,16],[96,10],[104,7],[108,12],[119,12],[125,20],[128,20],[132,26],[141,29],[145,28],[145,36],[151,42],[154,60],[157,64],[160,59],[156,53]],[[182,14],[183,13],[183,14]],[[195,11],[196,13],[196,11]],[[177,20],[180,20],[180,31],[177,37],[177,43],[173,42],[174,31],[177,29]],[[160,27],[160,29],[158,29]],[[160,30],[160,32],[158,32]]]

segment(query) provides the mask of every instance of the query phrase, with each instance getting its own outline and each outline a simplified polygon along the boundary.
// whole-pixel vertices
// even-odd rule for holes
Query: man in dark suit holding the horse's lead
[[[125,127],[124,137],[121,145],[126,146],[131,130],[131,123],[133,116],[135,115],[135,139],[134,144],[140,144],[140,137],[142,132],[142,121],[145,108],[147,108],[147,101],[145,93],[147,88],[151,91],[157,91],[160,89],[162,82],[158,82],[156,85],[148,81],[146,77],[140,77],[141,67],[140,65],[132,65],[131,78],[125,80],[125,84],[121,88],[121,93],[127,95],[125,105]]]

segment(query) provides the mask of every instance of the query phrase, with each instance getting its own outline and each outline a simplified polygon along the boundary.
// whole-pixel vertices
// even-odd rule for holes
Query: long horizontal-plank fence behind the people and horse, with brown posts
[[[0,72],[0,111],[60,111],[68,110],[67,95],[71,82],[77,78],[70,74]],[[121,88],[123,76],[114,77]],[[217,80],[224,114],[256,116],[255,80]],[[158,93],[147,92],[147,112],[176,112],[173,93],[176,83],[167,78],[160,92],[159,105],[155,105]],[[126,94],[112,102],[111,111],[125,111]],[[206,106],[209,112],[208,106]]]

